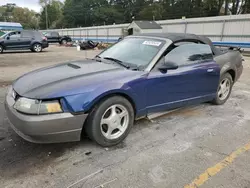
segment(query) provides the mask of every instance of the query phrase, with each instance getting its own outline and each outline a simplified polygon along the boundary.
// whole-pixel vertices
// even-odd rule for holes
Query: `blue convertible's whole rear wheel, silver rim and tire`
[[[229,73],[221,76],[218,91],[215,99],[212,101],[216,105],[224,104],[229,98],[233,87],[233,79]]]

